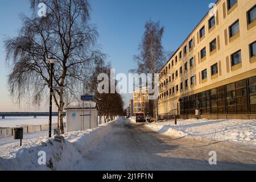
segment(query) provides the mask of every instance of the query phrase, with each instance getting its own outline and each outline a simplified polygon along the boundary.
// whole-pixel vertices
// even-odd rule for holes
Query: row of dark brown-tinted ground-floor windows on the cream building
[[[180,113],[195,114],[255,114],[256,76],[233,82],[205,92],[183,97]]]

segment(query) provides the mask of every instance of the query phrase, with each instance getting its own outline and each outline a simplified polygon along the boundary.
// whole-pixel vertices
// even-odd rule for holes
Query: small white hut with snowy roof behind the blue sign
[[[67,131],[93,129],[98,126],[98,106],[96,102],[84,102],[84,119],[82,118],[82,102],[69,104],[66,108]],[[84,123],[82,122],[84,120]]]

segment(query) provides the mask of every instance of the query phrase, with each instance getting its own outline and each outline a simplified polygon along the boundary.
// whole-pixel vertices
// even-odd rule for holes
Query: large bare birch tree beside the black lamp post
[[[59,110],[59,126],[64,133],[65,102],[82,92],[89,68],[101,56],[96,46],[97,30],[89,24],[90,4],[87,0],[30,0],[31,18],[22,16],[19,35],[6,38],[6,61],[10,74],[8,84],[14,100],[28,100],[39,105],[48,96],[50,65],[47,58],[59,60],[53,71],[53,100]],[[46,16],[37,16],[39,3],[47,7]]]

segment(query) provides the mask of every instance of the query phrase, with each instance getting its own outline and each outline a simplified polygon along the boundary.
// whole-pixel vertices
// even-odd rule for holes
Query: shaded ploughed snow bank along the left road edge
[[[80,170],[84,164],[81,160],[86,152],[97,146],[98,142],[111,130],[112,122],[96,129],[76,131],[57,135],[51,139],[37,137],[28,139],[22,147],[18,143],[7,144],[8,150],[0,156],[2,170]],[[2,150],[6,147],[2,147]],[[1,147],[0,147],[1,150]],[[46,152],[46,165],[38,163],[40,151]],[[0,152],[1,154],[1,152]]]

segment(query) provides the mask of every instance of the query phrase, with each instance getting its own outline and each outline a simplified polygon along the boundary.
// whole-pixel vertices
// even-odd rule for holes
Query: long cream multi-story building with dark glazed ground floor
[[[159,114],[256,118],[256,0],[219,0],[160,71]]]

